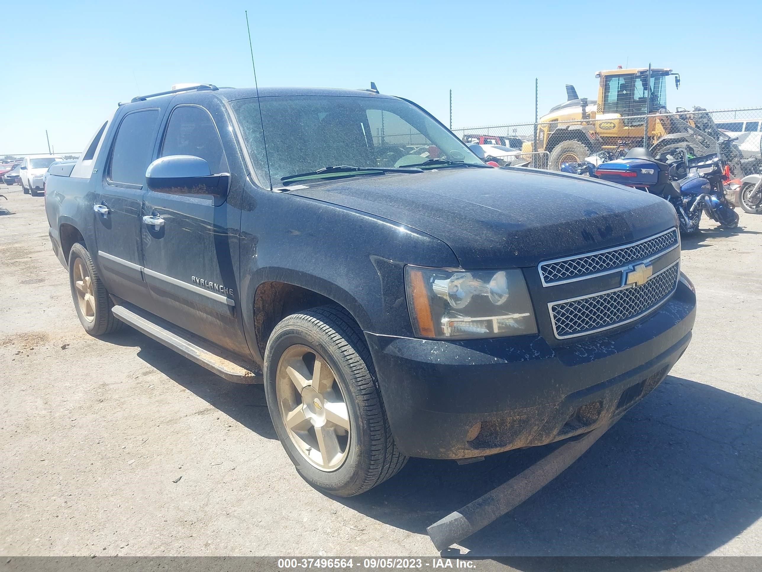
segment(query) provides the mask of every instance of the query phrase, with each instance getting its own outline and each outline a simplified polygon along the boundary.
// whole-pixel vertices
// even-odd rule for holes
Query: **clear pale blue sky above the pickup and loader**
[[[762,2],[47,2],[4,25],[0,156],[78,152],[117,101],[178,82],[366,88],[453,127],[504,124],[595,98],[600,69],[670,67],[668,108],[762,106]],[[6,11],[8,24],[13,15]],[[738,24],[745,22],[744,25]],[[744,40],[744,30],[750,35]],[[12,67],[14,66],[14,67]]]

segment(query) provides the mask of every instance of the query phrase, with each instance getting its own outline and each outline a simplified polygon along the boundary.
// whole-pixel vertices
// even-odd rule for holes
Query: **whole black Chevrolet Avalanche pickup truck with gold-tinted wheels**
[[[666,201],[495,169],[375,90],[133,98],[51,168],[46,213],[88,333],[264,383],[299,474],[338,496],[613,423],[695,317]]]

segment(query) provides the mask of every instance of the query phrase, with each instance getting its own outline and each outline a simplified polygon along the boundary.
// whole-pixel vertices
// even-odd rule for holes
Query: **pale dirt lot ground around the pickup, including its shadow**
[[[20,187],[0,216],[0,556],[437,555],[425,528],[547,451],[411,460],[362,496],[299,478],[261,386],[127,328],[79,325]],[[693,343],[564,474],[462,542],[472,555],[762,554],[762,216],[684,241]]]

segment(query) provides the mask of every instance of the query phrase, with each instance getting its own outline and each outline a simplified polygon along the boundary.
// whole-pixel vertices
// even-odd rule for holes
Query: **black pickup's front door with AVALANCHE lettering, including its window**
[[[198,156],[207,161],[212,174],[229,172],[223,143],[207,109],[176,105],[163,133],[159,157]],[[152,298],[149,309],[226,349],[248,355],[238,314],[240,210],[220,198],[149,190],[142,216],[149,217],[142,224],[143,272]]]

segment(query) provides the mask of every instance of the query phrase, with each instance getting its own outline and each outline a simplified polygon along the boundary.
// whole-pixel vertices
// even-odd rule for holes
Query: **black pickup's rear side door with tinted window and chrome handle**
[[[149,298],[141,268],[140,211],[161,119],[162,108],[152,102],[121,117],[94,201],[102,278],[111,294],[139,306]]]

